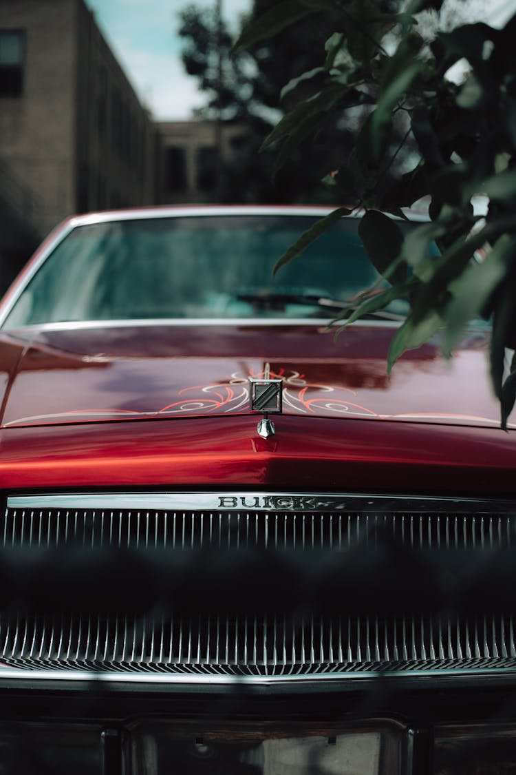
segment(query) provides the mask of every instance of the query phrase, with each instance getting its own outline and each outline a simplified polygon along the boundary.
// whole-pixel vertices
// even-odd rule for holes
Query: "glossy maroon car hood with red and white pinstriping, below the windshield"
[[[437,343],[391,377],[392,325],[106,325],[0,335],[2,427],[246,414],[249,377],[281,377],[289,415],[458,425],[499,424],[487,337],[471,332],[451,361]]]

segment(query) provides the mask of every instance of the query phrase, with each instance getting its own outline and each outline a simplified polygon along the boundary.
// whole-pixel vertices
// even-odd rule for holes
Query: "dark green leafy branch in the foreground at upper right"
[[[293,5],[295,16],[309,14],[314,27],[331,15],[333,33],[313,67],[286,84],[283,94],[291,100],[302,84],[299,101],[263,147],[278,148],[280,167],[322,122],[356,116],[361,108],[347,159],[341,164],[336,158],[323,183],[339,204],[367,208],[361,236],[392,285],[361,294],[353,315],[349,308],[343,313],[343,325],[408,294],[411,312],[392,340],[390,369],[405,350],[440,329],[443,351],[450,354],[473,317],[492,315],[490,371],[506,428],[516,398],[516,360],[508,376],[504,367],[507,348],[516,348],[516,15],[504,29],[463,23],[429,41],[425,13],[439,15],[442,0],[411,0],[403,9],[381,0]],[[235,50],[285,30],[291,8],[289,0],[278,3],[244,31]],[[459,83],[449,77],[451,67],[462,71]],[[402,136],[393,147],[396,126]],[[412,168],[397,167],[398,154],[407,159],[411,150]],[[489,198],[484,215],[474,211],[477,196]],[[431,222],[403,239],[383,213],[405,217],[402,208],[422,197]],[[332,219],[321,221],[318,230]],[[301,253],[312,236],[302,235],[277,268]],[[430,257],[432,241],[439,257]],[[478,250],[485,254],[480,263]]]

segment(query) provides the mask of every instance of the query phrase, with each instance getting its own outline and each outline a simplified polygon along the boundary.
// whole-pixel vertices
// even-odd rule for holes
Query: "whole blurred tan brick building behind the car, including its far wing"
[[[84,0],[0,0],[0,294],[67,215],[213,202],[216,160],[213,122],[153,122]]]

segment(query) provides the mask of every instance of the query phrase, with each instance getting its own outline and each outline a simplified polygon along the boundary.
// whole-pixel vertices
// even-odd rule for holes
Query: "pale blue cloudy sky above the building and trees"
[[[192,2],[213,8],[216,0],[86,0],[139,98],[158,120],[188,119],[206,102],[180,58],[178,14]],[[482,20],[492,26],[516,12],[516,0],[477,0],[476,5],[484,6]],[[251,0],[222,0],[224,20],[237,29],[250,7]]]

